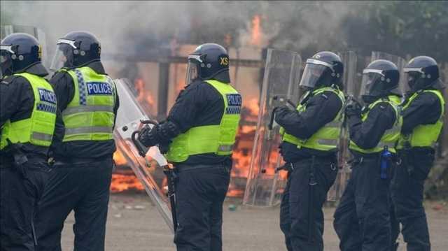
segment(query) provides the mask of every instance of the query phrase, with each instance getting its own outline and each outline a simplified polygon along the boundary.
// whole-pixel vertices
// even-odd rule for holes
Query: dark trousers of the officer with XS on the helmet
[[[230,182],[230,166],[176,166],[174,235],[178,251],[223,250],[223,202]]]

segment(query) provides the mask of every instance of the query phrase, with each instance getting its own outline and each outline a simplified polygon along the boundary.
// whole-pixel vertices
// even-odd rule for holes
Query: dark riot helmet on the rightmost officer
[[[437,66],[437,62],[432,57],[414,57],[403,71],[405,71],[407,85],[411,93],[421,89],[444,88],[440,81],[439,66]]]

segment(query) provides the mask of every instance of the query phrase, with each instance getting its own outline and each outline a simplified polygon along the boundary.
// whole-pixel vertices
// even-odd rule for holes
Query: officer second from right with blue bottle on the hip
[[[335,211],[334,227],[342,251],[390,250],[391,168],[400,137],[400,72],[386,60],[375,60],[363,71],[360,105],[345,110],[349,125],[352,173]]]

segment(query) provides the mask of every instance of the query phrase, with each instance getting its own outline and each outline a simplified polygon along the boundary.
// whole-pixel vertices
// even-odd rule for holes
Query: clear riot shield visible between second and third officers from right
[[[349,101],[349,99],[352,99],[353,96],[356,96],[359,92],[359,84],[357,85],[357,83],[360,83],[360,80],[357,79],[356,72],[358,57],[356,56],[356,53],[352,51],[339,52],[338,54],[344,63],[343,89],[346,100]],[[339,172],[337,173],[335,183],[328,191],[328,201],[337,201],[341,198],[351,173],[351,168],[348,164],[349,159],[351,159],[349,152],[349,129],[344,121],[341,128],[339,152],[337,155]]]

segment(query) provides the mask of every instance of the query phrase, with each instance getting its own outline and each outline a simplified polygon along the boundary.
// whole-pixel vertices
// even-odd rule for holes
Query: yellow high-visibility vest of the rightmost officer
[[[443,127],[444,120],[444,108],[445,101],[443,99],[442,93],[439,90],[427,89],[421,92],[414,93],[409,101],[403,107],[403,110],[409,107],[410,103],[416,99],[419,94],[424,92],[432,92],[435,94],[440,101],[440,117],[434,124],[419,124],[412,130],[412,134],[402,135],[400,138],[400,143],[398,144],[398,149],[402,149],[405,145],[409,145],[409,147],[435,147],[435,143],[437,143],[437,139],[439,138],[440,132]]]

